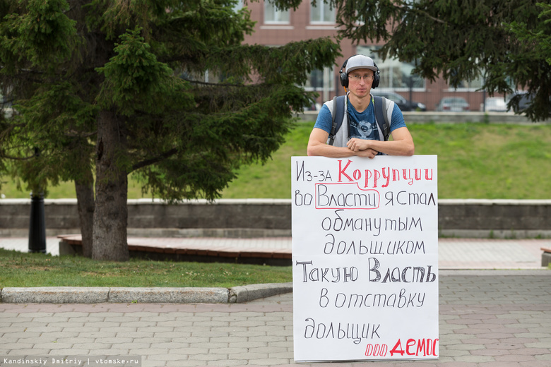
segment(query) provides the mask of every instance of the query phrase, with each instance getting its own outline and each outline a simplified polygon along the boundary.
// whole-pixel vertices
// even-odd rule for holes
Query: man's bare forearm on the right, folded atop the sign
[[[371,149],[377,150],[378,152],[384,152],[387,155],[410,156],[415,154],[413,138],[407,127],[396,128],[391,135],[392,140],[389,141],[352,138],[348,140],[347,146],[354,152]]]

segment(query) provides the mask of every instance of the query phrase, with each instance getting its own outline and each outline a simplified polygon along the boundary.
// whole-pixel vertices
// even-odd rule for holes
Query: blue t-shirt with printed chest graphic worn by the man
[[[350,103],[350,100],[348,100],[347,105],[349,122],[348,133],[350,134],[350,138],[380,140],[379,130],[377,129],[377,122],[375,121],[373,98],[372,102],[369,103],[369,106],[367,106],[367,109],[365,109],[364,112],[357,112],[354,106],[352,106],[352,104]],[[329,108],[324,104],[319,110],[314,128],[321,128],[327,133],[331,133],[332,126],[333,118],[331,117],[331,111],[329,111]],[[390,121],[390,132],[396,130],[397,128],[403,127],[405,127],[403,114],[400,110],[400,107],[394,104],[394,108],[392,110],[392,119]]]

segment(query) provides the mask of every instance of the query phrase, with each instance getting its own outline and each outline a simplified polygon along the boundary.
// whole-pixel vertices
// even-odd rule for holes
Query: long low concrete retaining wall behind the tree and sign
[[[551,237],[551,200],[451,200],[438,202],[441,236]],[[48,236],[79,233],[76,200],[45,200]],[[30,199],[0,200],[0,236],[27,236]],[[196,200],[168,205],[129,200],[132,236],[266,237],[291,235],[291,201]]]

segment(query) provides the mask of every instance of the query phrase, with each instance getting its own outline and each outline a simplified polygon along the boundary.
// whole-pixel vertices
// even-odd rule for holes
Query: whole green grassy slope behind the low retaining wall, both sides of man
[[[266,164],[242,167],[223,198],[290,198],[292,156],[306,155],[313,122],[300,123]],[[438,155],[439,198],[549,199],[551,125],[410,124],[415,154]],[[4,178],[6,198],[29,198]],[[142,198],[129,180],[129,198]],[[49,188],[47,198],[75,198],[73,183]]]

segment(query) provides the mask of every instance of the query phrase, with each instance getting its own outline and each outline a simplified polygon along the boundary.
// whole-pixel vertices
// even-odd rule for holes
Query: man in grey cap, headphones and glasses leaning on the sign
[[[343,73],[343,69],[345,72]],[[392,140],[384,141],[384,136],[375,121],[374,102],[371,89],[379,85],[379,68],[374,61],[364,55],[350,57],[340,70],[340,83],[348,88],[345,98],[345,116],[340,131],[336,133],[333,145],[327,140],[331,133],[333,101],[321,107],[316,124],[308,140],[308,155],[321,155],[331,158],[360,157],[374,158],[376,155],[413,155],[413,138],[405,126],[402,112],[390,100],[390,132]],[[386,112],[385,112],[386,113]]]

